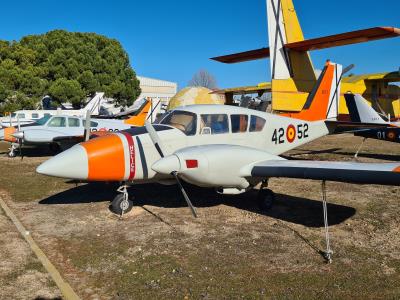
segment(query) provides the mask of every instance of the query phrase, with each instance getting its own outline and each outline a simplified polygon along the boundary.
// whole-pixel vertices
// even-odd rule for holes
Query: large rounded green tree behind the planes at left
[[[36,106],[46,94],[75,107],[95,92],[104,91],[120,105],[131,105],[140,95],[117,40],[64,30],[0,41],[0,83],[0,111]]]

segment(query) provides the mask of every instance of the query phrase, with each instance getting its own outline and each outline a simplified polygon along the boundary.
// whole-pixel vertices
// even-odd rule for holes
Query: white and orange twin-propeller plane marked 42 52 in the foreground
[[[342,67],[327,62],[305,108],[289,118],[242,107],[193,105],[170,111],[160,122],[99,137],[42,163],[40,174],[83,181],[123,182],[112,201],[115,213],[132,209],[129,184],[176,181],[194,216],[180,179],[223,194],[246,192],[262,183],[259,202],[274,199],[271,177],[361,184],[400,184],[400,163],[285,160],[282,153],[332,132],[338,112]],[[293,114],[294,115],[294,114]],[[323,198],[331,261],[326,197]]]

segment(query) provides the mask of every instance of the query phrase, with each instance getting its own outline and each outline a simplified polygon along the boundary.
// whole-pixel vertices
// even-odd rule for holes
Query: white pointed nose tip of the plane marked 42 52
[[[54,177],[86,180],[88,178],[86,150],[81,145],[75,145],[42,163],[36,172]]]

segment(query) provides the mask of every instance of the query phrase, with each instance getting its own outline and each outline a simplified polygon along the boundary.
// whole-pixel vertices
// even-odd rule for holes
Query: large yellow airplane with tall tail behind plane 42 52
[[[223,63],[239,63],[269,57],[271,83],[263,83],[245,90],[259,94],[272,92],[272,109],[298,112],[316,83],[316,71],[309,51],[319,50],[384,38],[398,37],[400,29],[374,27],[326,37],[305,40],[292,0],[267,0],[269,48],[245,51],[212,58]],[[343,78],[342,90],[362,94],[375,108],[400,117],[400,88],[391,82],[400,81],[399,72],[364,74]],[[227,89],[227,104],[243,89]],[[339,114],[347,119],[348,110],[343,97]]]

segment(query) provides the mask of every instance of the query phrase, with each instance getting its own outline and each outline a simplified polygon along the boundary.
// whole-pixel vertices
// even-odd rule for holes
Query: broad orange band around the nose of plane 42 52
[[[81,145],[88,155],[88,180],[120,181],[124,179],[124,147],[118,135],[108,134]]]

